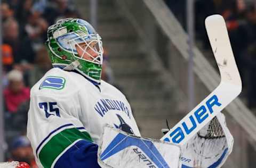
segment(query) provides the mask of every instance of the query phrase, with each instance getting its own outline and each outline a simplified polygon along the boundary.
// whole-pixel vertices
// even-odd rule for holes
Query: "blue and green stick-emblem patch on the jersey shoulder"
[[[44,79],[39,89],[51,88],[51,89],[63,89],[65,87],[66,79],[62,77],[49,76]]]

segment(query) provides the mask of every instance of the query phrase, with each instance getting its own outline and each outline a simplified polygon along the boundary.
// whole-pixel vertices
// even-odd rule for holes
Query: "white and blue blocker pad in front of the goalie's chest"
[[[101,167],[178,167],[180,147],[130,135],[107,125],[98,148]]]

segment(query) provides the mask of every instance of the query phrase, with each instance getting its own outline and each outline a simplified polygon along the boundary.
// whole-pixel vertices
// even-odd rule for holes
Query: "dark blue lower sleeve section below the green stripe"
[[[87,140],[80,140],[70,147],[58,159],[54,168],[69,168],[69,167],[100,167],[98,164],[98,145]]]

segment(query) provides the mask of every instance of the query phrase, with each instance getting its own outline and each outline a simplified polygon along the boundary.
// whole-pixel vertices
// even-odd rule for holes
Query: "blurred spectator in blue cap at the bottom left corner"
[[[26,136],[14,138],[11,144],[11,158],[9,161],[26,162],[31,168],[37,167],[33,150]]]

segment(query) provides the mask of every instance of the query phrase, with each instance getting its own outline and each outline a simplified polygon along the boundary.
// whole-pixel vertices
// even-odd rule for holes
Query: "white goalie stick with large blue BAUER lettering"
[[[242,91],[242,81],[230,45],[225,20],[221,15],[211,15],[205,19],[205,27],[220,71],[220,84],[161,140],[178,145],[185,144]]]

